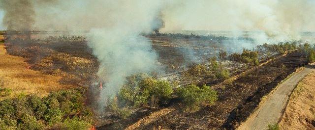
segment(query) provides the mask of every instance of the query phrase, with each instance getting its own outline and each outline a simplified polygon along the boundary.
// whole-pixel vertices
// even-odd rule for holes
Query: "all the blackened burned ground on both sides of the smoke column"
[[[305,54],[300,51],[290,51],[286,55],[272,54],[268,58],[273,57],[273,60],[257,67],[226,58],[222,61],[224,69],[230,72],[228,76],[236,76],[235,79],[227,79],[220,83],[224,78],[215,78],[216,74],[213,71],[200,72],[184,78],[184,72],[198,72],[198,65],[203,69],[209,69],[209,58],[223,50],[222,42],[195,38],[156,36],[148,38],[152,41],[152,48],[158,53],[158,61],[164,68],[164,76],[159,78],[178,81],[180,85],[194,83],[213,86],[218,92],[218,101],[214,105],[203,106],[198,111],[189,113],[183,112],[183,104],[175,97],[169,104],[161,105],[159,108],[144,106],[133,109],[127,119],[113,115],[101,116],[96,124],[99,126],[98,129],[127,128],[163,108],[175,110],[157,116],[159,118],[141,126],[141,129],[234,129],[246,120],[264,95],[296,68],[306,63]],[[48,37],[30,41],[16,37],[8,40],[5,45],[9,54],[28,58],[27,62],[31,64],[29,69],[62,76],[60,82],[64,84],[85,87],[92,91],[99,89],[100,81],[96,76],[99,63],[83,37]],[[268,58],[261,58],[261,63],[270,60]],[[245,71],[247,72],[242,73]],[[88,102],[97,99],[87,97]]]

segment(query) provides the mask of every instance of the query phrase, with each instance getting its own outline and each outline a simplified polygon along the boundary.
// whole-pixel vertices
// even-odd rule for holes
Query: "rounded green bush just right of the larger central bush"
[[[201,104],[214,104],[218,100],[217,92],[206,85],[201,88],[194,84],[180,87],[177,94],[186,105],[185,111],[196,111]]]

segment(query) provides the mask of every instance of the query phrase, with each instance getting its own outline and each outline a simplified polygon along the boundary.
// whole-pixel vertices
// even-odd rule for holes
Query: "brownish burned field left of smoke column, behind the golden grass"
[[[29,41],[14,38],[5,45],[9,54],[28,58],[29,69],[63,76],[64,84],[86,86],[97,72],[97,59],[80,37]]]

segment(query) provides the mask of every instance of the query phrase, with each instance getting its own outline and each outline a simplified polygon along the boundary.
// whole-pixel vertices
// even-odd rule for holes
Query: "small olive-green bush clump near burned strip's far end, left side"
[[[248,63],[252,66],[259,65],[258,52],[251,51],[248,49],[243,49],[243,52],[241,54],[233,53],[233,54],[229,55],[229,58],[234,60],[234,61],[240,61],[243,63]]]

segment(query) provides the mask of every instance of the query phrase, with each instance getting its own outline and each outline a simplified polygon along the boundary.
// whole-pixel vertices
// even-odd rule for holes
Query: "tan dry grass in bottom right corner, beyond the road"
[[[315,130],[315,72],[297,85],[279,126],[281,130]]]

